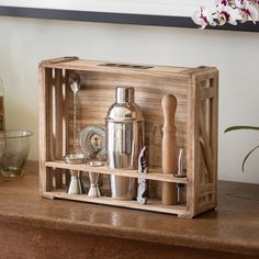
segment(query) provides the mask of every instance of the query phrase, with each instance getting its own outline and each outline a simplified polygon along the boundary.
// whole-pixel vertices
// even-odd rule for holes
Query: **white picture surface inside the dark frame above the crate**
[[[23,8],[46,8],[93,12],[145,13],[191,16],[203,5],[215,7],[214,0],[0,0],[1,5]]]

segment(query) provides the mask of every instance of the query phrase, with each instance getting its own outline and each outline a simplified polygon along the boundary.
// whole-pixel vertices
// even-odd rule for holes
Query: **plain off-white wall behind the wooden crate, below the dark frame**
[[[223,131],[259,124],[259,34],[138,25],[0,18],[0,75],[5,82],[9,128],[34,132],[30,159],[38,155],[37,65],[76,55],[85,59],[219,69],[219,179],[259,183],[259,150],[240,170],[259,132]]]

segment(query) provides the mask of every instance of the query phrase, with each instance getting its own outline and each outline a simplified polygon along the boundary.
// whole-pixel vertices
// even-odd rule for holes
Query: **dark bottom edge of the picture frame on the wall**
[[[113,12],[92,12],[75,10],[57,10],[43,8],[3,7],[0,5],[0,15],[33,19],[52,19],[80,22],[101,22],[116,24],[153,25],[168,27],[198,29],[191,18],[155,15],[155,14],[133,14]],[[225,24],[224,26],[207,26],[209,30],[259,32],[259,25],[252,22],[238,23],[238,25]],[[206,29],[206,30],[207,30]]]

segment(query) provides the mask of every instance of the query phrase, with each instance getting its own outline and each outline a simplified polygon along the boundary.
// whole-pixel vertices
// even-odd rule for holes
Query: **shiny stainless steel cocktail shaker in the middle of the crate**
[[[137,169],[144,146],[144,117],[134,102],[134,88],[116,88],[116,101],[106,115],[106,150],[110,168]],[[132,200],[136,179],[111,176],[112,198]]]

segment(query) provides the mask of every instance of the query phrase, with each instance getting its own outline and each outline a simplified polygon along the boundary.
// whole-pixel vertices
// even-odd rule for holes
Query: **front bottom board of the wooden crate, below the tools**
[[[46,199],[71,200],[71,201],[95,203],[95,204],[102,204],[102,205],[135,209],[135,210],[142,210],[142,211],[176,214],[179,217],[183,217],[187,214],[187,206],[184,204],[183,205],[164,205],[161,204],[161,202],[153,201],[153,200],[148,200],[147,204],[140,204],[136,201],[121,201],[121,200],[115,200],[109,196],[89,198],[87,194],[79,194],[79,195],[69,194],[63,191],[44,192],[43,196]]]

